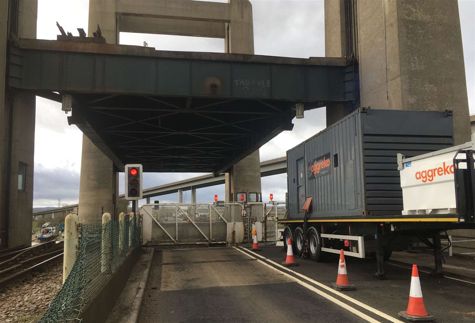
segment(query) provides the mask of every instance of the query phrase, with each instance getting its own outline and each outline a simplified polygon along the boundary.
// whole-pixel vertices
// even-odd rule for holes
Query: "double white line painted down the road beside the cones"
[[[332,302],[335,303],[336,305],[339,305],[339,306],[341,306],[342,308],[344,308],[344,309],[346,309],[346,310],[352,312],[353,314],[356,314],[356,315],[360,316],[362,319],[364,319],[364,320],[366,320],[366,321],[368,321],[368,322],[371,322],[371,323],[380,323],[380,321],[373,319],[371,316],[368,316],[368,315],[366,315],[366,314],[364,314],[364,313],[358,311],[356,308],[354,308],[354,307],[352,307],[352,306],[350,306],[350,305],[348,305],[348,304],[346,304],[346,303],[343,303],[342,301],[336,299],[336,298],[333,297],[332,295],[329,295],[329,294],[325,293],[323,290],[320,290],[320,289],[318,289],[318,288],[315,288],[314,286],[312,286],[312,285],[310,285],[310,284],[307,284],[306,282],[304,282],[304,281],[302,281],[302,280],[300,280],[300,279],[297,279],[296,277],[294,277],[294,276],[292,276],[292,275],[287,274],[287,273],[284,272],[282,269],[284,269],[284,270],[286,270],[286,271],[288,271],[288,272],[291,272],[292,274],[294,274],[294,275],[296,275],[296,276],[298,276],[298,277],[304,278],[305,280],[311,282],[312,284],[314,284],[314,285],[316,285],[316,286],[319,286],[320,288],[322,288],[322,289],[324,289],[324,290],[326,290],[326,291],[328,291],[328,292],[331,292],[331,293],[333,293],[333,294],[335,294],[335,295],[338,295],[338,296],[340,296],[340,297],[346,299],[347,301],[352,302],[352,303],[355,304],[355,305],[361,306],[361,307],[364,308],[365,310],[370,311],[370,312],[372,312],[372,313],[374,313],[374,314],[376,314],[376,315],[379,315],[380,317],[382,317],[382,318],[384,318],[384,319],[386,319],[386,320],[388,320],[388,321],[390,321],[390,322],[393,322],[393,323],[404,323],[404,322],[399,321],[398,319],[396,319],[396,318],[394,318],[394,317],[392,317],[392,316],[390,316],[390,315],[388,315],[388,314],[384,314],[384,313],[382,313],[381,311],[378,311],[377,309],[375,309],[375,308],[373,308],[373,307],[371,307],[371,306],[369,306],[369,305],[366,305],[366,304],[364,304],[364,303],[361,303],[360,301],[357,301],[356,299],[354,299],[354,298],[352,298],[352,297],[350,297],[350,296],[348,296],[348,295],[345,295],[345,294],[340,293],[339,291],[336,291],[336,290],[334,290],[334,289],[332,289],[332,288],[330,288],[330,287],[328,287],[328,286],[326,286],[326,285],[323,285],[322,283],[319,283],[319,282],[317,282],[316,280],[314,280],[314,279],[312,279],[312,278],[310,278],[310,277],[304,276],[304,275],[302,275],[302,274],[300,274],[300,273],[298,273],[298,272],[296,272],[296,271],[294,271],[294,270],[292,270],[292,269],[286,268],[286,267],[284,267],[284,266],[282,266],[282,265],[276,263],[275,261],[272,261],[272,260],[270,260],[270,259],[267,259],[266,257],[263,257],[263,256],[261,256],[261,255],[255,253],[255,252],[249,250],[249,249],[246,249],[246,248],[243,248],[243,247],[239,247],[239,248],[233,247],[233,248],[236,249],[236,250],[239,251],[239,252],[242,252],[242,253],[245,254],[247,257],[256,259],[256,260],[257,260],[258,262],[260,262],[261,264],[263,264],[263,265],[265,265],[265,266],[267,266],[267,267],[269,267],[269,268],[271,268],[271,269],[273,269],[273,270],[275,270],[275,271],[277,271],[277,272],[279,272],[279,273],[285,275],[286,277],[289,277],[290,279],[294,280],[296,283],[298,283],[298,284],[304,286],[305,288],[310,289],[311,291],[317,293],[318,295],[321,295],[321,296],[325,297],[325,298],[328,299],[329,301],[332,301]],[[245,251],[244,251],[244,250],[245,250]],[[257,256],[258,258],[264,259],[265,261],[260,260],[260,259],[258,259],[258,258],[256,258],[256,257],[253,257],[253,256],[250,255],[250,254],[253,254],[253,255]],[[270,264],[272,264],[272,265],[274,265],[274,266],[276,266],[276,267],[278,267],[278,268],[281,268],[281,269],[278,269],[278,268],[276,268],[276,267],[274,267],[274,266],[271,266]]]

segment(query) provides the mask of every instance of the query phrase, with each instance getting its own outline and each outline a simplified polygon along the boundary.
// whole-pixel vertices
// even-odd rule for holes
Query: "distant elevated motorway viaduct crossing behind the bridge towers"
[[[274,159],[261,161],[261,177],[284,174],[287,172],[287,157],[278,157]],[[224,174],[213,177],[213,174],[206,174],[188,179],[183,179],[178,182],[163,184],[160,186],[145,188],[143,190],[143,198],[166,195],[171,193],[177,193],[179,189],[183,191],[189,191],[191,188],[203,188],[213,185],[224,184]],[[119,195],[119,198],[123,198],[124,194]],[[78,204],[71,204],[67,207],[57,207],[48,210],[38,210],[33,212],[33,216],[43,216],[54,212],[63,212],[66,210],[73,210]]]

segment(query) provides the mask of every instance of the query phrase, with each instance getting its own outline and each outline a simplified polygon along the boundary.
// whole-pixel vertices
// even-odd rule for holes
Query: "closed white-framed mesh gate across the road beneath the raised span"
[[[143,205],[143,240],[158,244],[227,242],[228,223],[243,226],[243,209],[242,203]]]

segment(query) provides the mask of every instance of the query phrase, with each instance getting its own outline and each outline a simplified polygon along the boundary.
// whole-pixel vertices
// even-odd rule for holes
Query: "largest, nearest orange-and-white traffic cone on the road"
[[[411,322],[432,322],[436,319],[434,315],[427,313],[426,306],[424,306],[417,265],[412,265],[408,309],[406,311],[400,311],[398,314],[400,317]]]

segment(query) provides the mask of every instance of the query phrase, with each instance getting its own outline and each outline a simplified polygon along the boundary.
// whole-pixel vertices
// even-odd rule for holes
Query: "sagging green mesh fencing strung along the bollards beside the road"
[[[137,217],[129,221],[126,215],[125,221],[81,225],[74,266],[39,323],[81,322],[81,307],[101,290],[127,253],[141,246],[140,224]]]

